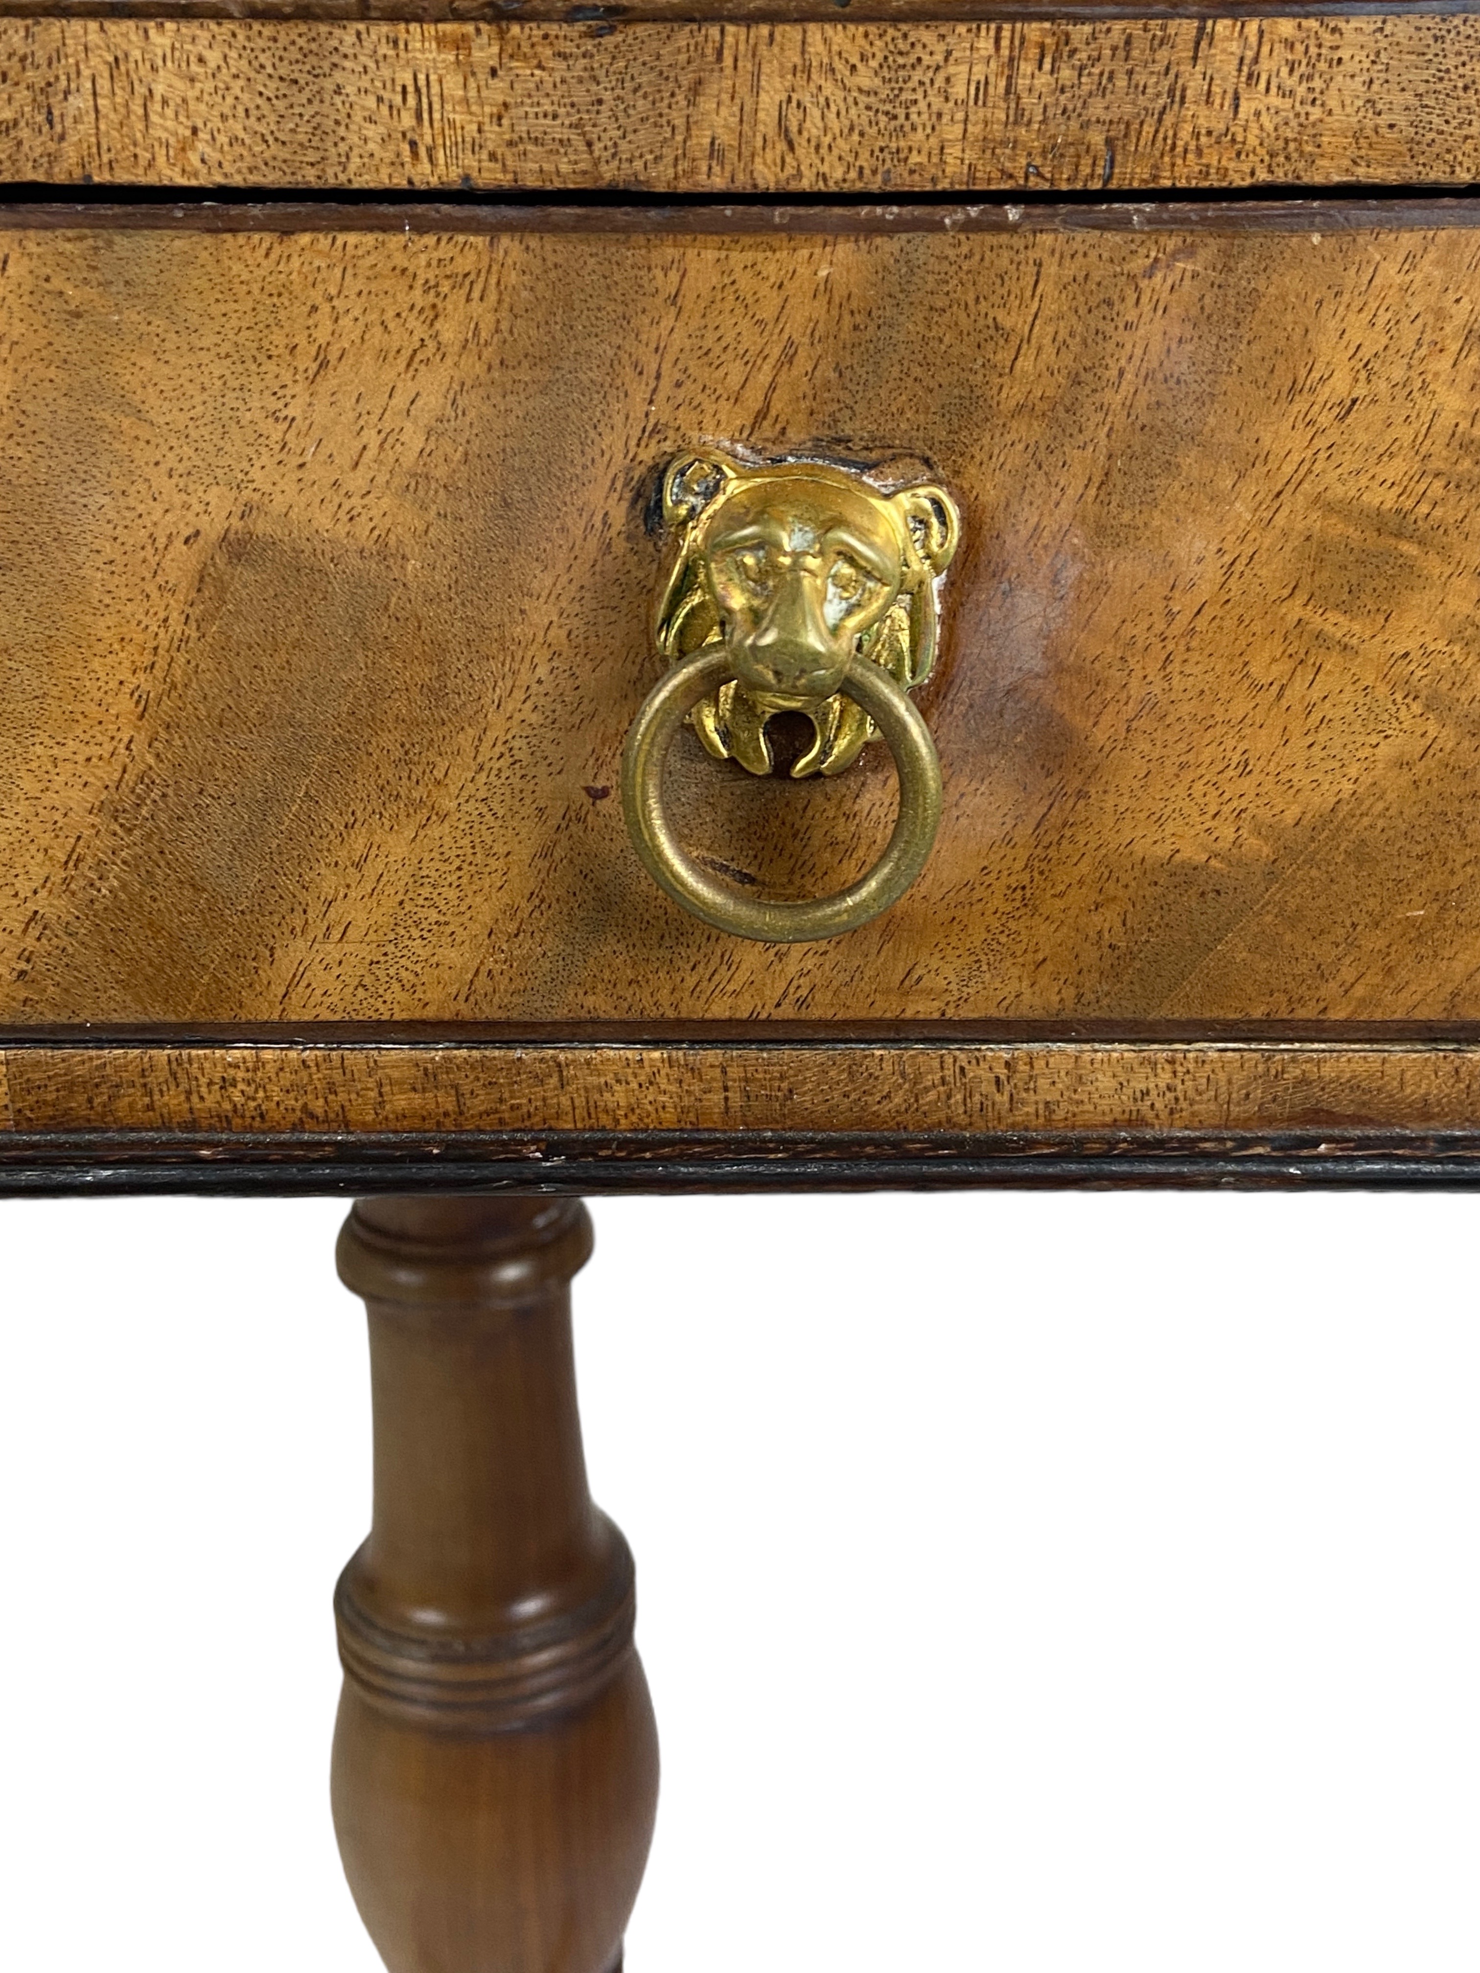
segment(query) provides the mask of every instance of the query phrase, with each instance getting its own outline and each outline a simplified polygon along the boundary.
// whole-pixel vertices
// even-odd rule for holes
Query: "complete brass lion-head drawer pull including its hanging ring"
[[[663,475],[673,566],[657,647],[673,667],[633,720],[622,807],[649,874],[687,910],[748,939],[829,939],[896,904],[939,825],[935,748],[908,691],[935,661],[937,586],[959,539],[937,485],[898,491],[813,462],[746,466],[689,452]],[[766,724],[805,712],[811,746],[793,777],[837,775],[882,732],[900,775],[900,813],[874,868],[807,902],[742,898],[673,839],[663,762],[685,716],[716,760],[772,773]]]

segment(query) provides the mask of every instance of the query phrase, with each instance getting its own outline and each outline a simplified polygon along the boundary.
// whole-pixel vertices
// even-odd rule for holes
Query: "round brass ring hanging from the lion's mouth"
[[[841,691],[880,728],[900,775],[900,813],[888,846],[872,870],[831,898],[795,904],[738,898],[679,846],[663,813],[663,766],[673,736],[693,706],[732,677],[734,659],[722,643],[712,645],[669,671],[643,700],[622,750],[622,813],[633,846],[669,898],[718,931],[774,945],[856,931],[900,902],[935,842],[941,764],[929,728],[888,671],[854,657]]]

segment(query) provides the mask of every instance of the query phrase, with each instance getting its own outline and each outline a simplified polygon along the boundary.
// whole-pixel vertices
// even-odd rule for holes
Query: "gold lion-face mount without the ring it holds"
[[[841,773],[874,722],[839,687],[854,657],[908,691],[935,661],[935,582],[959,539],[937,485],[884,493],[839,466],[744,466],[689,452],[663,475],[663,523],[677,535],[657,614],[669,663],[724,643],[734,681],[693,712],[716,760],[774,767],[766,722],[805,712],[813,742],[793,777]]]

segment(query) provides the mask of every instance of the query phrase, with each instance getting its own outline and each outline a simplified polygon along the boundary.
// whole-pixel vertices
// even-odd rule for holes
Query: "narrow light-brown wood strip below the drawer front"
[[[10,1134],[1474,1131],[1480,1044],[16,1046]],[[0,1133],[0,1138],[6,1134]]]

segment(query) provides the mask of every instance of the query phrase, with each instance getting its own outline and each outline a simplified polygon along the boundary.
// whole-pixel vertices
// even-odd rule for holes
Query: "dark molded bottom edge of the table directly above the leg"
[[[373,1192],[933,1192],[973,1188],[1480,1188],[1470,1133],[1095,1136],[16,1138],[0,1196]]]

